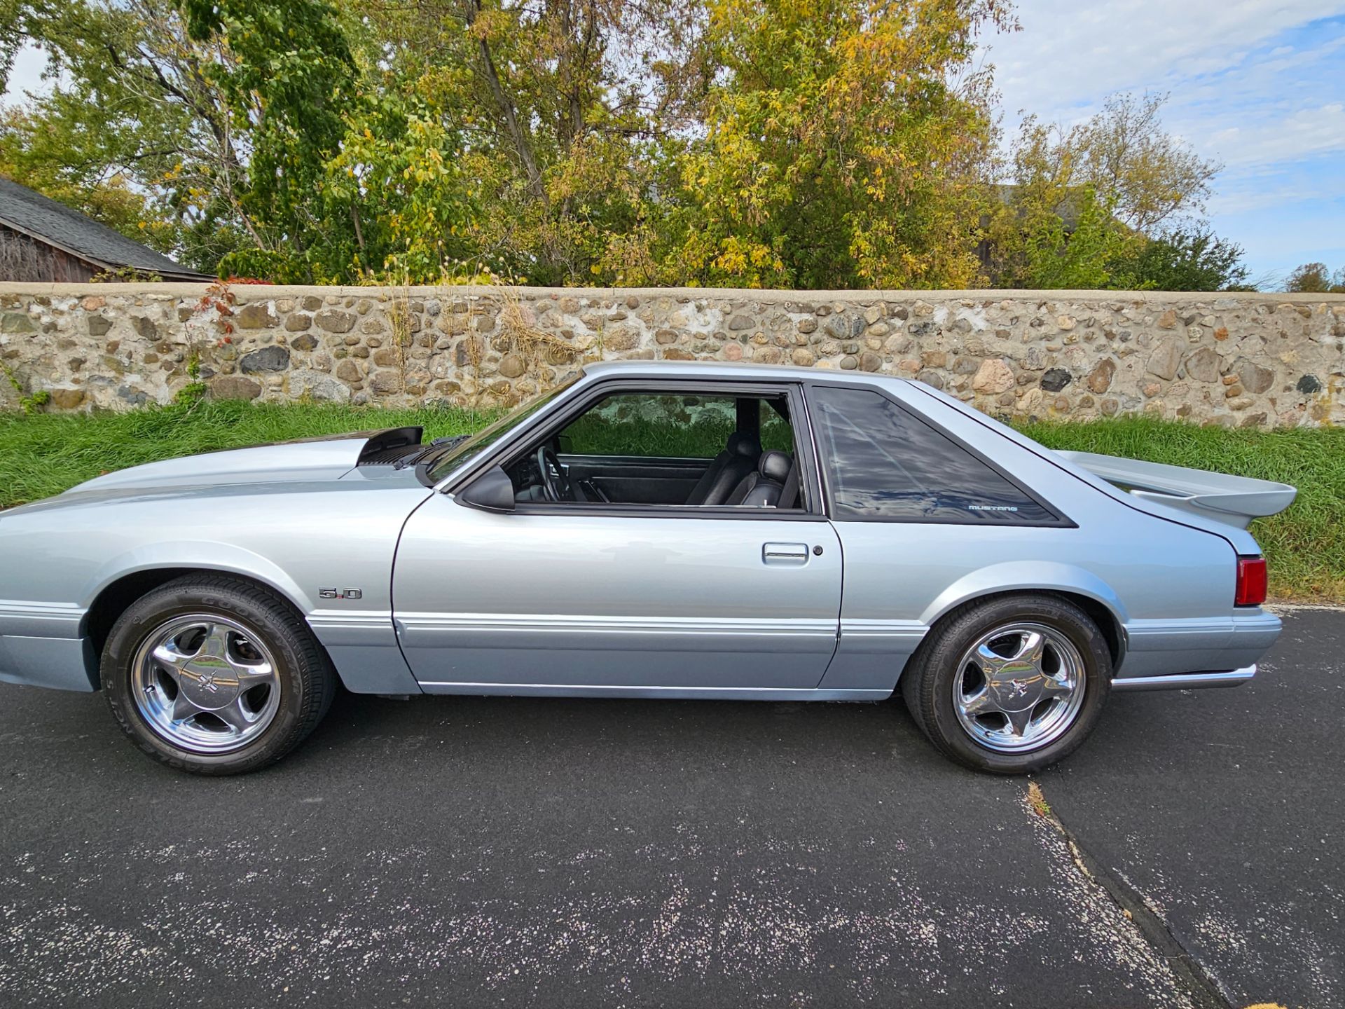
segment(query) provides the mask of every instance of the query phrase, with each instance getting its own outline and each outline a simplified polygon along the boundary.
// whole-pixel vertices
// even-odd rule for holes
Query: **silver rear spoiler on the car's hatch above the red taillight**
[[[1182,465],[1143,463],[1138,459],[1102,456],[1093,452],[1056,452],[1093,476],[1182,511],[1216,518],[1239,529],[1263,515],[1275,515],[1290,504],[1298,490],[1287,483],[1229,476]]]

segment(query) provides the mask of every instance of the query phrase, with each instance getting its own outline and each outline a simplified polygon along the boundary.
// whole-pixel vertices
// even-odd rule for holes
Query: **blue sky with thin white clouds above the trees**
[[[1224,164],[1206,215],[1276,287],[1345,266],[1345,0],[1020,0],[1022,30],[983,39],[1005,126],[1065,125],[1114,91],[1161,91],[1169,129]],[[39,87],[20,54],[13,98]]]

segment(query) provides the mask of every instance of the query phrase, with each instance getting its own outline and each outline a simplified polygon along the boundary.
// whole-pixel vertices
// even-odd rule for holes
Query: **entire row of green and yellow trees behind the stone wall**
[[[1028,117],[997,157],[975,54],[1001,0],[0,0],[0,74],[24,39],[52,70],[0,110],[0,172],[221,276],[1204,289],[1231,249],[1170,231],[1217,165],[1162,96]]]

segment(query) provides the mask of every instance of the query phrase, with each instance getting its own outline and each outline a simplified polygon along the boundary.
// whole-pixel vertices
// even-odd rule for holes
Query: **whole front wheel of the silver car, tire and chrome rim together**
[[[307,624],[274,592],[223,576],[178,578],[132,603],[102,652],[113,716],[182,771],[256,771],[293,749],[336,685]]]

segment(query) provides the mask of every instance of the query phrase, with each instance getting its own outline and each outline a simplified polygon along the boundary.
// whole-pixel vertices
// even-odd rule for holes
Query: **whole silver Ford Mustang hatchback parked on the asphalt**
[[[880,701],[1024,772],[1114,690],[1279,634],[1245,526],[1294,488],[1052,452],[928,386],[593,365],[479,435],[175,459],[0,514],[0,679],[98,690],[183,771],[356,693]]]

